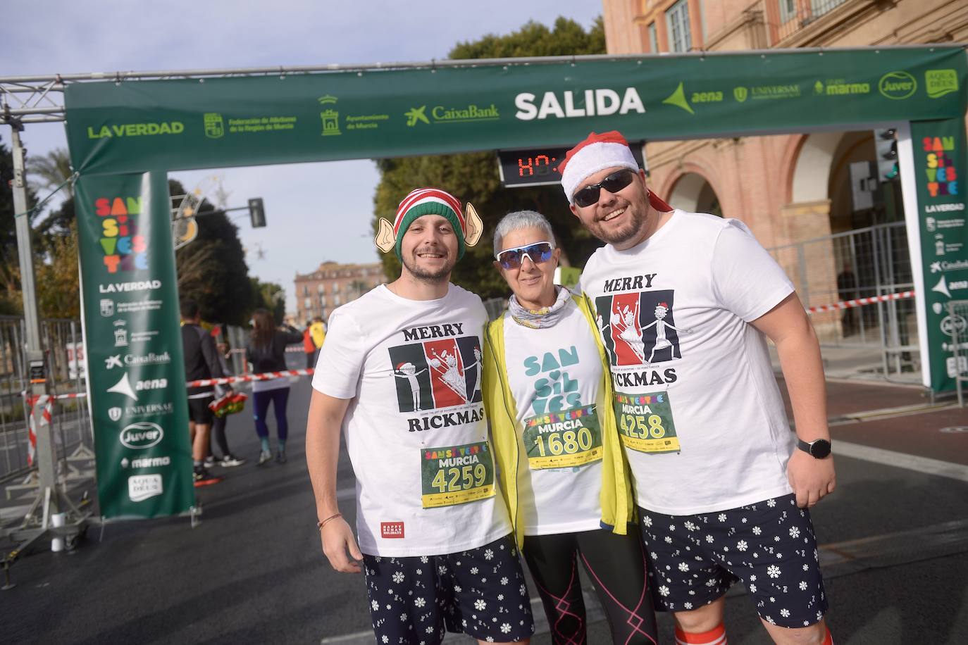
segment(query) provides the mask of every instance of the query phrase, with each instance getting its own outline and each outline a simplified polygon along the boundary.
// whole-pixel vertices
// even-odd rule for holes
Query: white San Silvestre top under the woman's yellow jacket
[[[525,535],[591,531],[601,523],[602,363],[571,299],[554,327],[504,313],[504,362],[517,403],[518,504]]]

